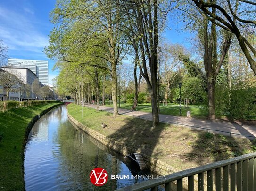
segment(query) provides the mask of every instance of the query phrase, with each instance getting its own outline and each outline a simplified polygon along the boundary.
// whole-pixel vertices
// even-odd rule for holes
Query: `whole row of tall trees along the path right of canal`
[[[118,115],[118,66],[124,59],[133,60],[132,109],[136,109],[143,77],[151,97],[154,126],[159,124],[160,84],[165,84],[168,99],[169,88],[182,71],[178,63],[182,63],[189,74],[194,73],[195,82],[205,81],[209,119],[215,119],[215,84],[223,68],[230,72],[231,80],[228,52],[232,41],[256,75],[255,21],[250,19],[255,7],[245,0],[58,0],[51,14],[55,28],[45,53],[58,59],[58,90],[72,93],[78,103],[84,105],[86,99],[90,101],[90,92],[95,92],[99,110],[100,94],[104,98],[111,86],[114,116]],[[170,17],[184,20],[186,28],[198,34],[194,41],[199,45],[205,71],[182,52],[182,47],[168,52],[164,43],[159,43]],[[170,55],[172,58],[168,58]],[[166,72],[160,75],[161,67]]]

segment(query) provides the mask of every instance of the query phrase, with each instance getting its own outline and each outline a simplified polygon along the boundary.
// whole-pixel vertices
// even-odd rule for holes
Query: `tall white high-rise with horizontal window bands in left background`
[[[7,62],[9,67],[12,66],[30,69],[36,74],[39,82],[44,85],[48,85],[48,61],[11,58],[8,59]]]

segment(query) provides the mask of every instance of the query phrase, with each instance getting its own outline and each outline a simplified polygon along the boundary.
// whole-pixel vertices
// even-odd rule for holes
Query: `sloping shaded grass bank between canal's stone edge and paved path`
[[[177,125],[152,122],[126,115],[113,117],[112,113],[74,104],[68,113],[77,121],[138,152],[159,159],[175,168],[187,169],[256,151],[246,138],[191,130]],[[102,128],[101,123],[107,124]]]

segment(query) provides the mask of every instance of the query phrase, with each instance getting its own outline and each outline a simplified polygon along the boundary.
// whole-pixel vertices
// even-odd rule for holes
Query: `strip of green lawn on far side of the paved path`
[[[106,104],[106,106],[108,106],[108,105]],[[121,108],[131,109],[132,104],[121,103]],[[136,110],[145,111],[145,112],[152,112],[151,104],[150,103],[138,104]],[[182,110],[182,116],[187,116],[187,111],[188,110],[191,111],[191,116],[192,117],[206,118],[208,116],[207,107],[202,106],[202,105],[192,105],[188,108],[185,108],[184,105],[182,105],[181,110]],[[163,106],[163,104],[160,104],[160,114],[178,116],[178,115],[180,115],[180,106],[177,105],[177,104],[168,104],[168,106]]]

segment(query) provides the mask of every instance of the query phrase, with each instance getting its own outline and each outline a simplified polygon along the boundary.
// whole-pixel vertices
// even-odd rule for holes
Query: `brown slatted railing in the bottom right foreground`
[[[198,188],[194,176],[198,176]],[[185,189],[188,191],[256,191],[256,153],[190,168],[167,175],[166,179],[148,180],[116,191],[157,191],[160,185],[164,185],[165,191],[183,191],[184,179],[188,181]]]

